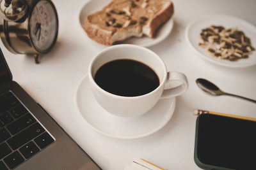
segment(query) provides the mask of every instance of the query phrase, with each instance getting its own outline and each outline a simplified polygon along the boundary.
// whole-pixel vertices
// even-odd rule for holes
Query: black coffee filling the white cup
[[[99,87],[118,96],[141,96],[159,86],[157,74],[136,60],[113,60],[101,66],[94,78]]]

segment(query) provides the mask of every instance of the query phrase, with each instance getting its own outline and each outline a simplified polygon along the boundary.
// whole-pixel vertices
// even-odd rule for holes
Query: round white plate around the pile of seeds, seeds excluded
[[[256,27],[239,18],[230,17],[227,15],[207,15],[197,18],[191,22],[186,28],[186,38],[189,45],[196,50],[196,52],[204,59],[226,67],[248,67],[256,64],[256,52],[253,51],[249,55],[248,59],[240,59],[237,61],[223,60],[216,57],[212,57],[205,48],[198,45],[198,37],[202,29],[211,25],[222,25],[226,29],[231,27],[237,27],[239,31],[243,31],[244,34],[251,39],[252,46],[256,48]]]

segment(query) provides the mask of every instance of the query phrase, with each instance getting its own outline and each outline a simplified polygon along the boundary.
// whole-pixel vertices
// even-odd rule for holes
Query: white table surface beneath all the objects
[[[10,53],[2,42],[1,49],[13,80],[20,83],[102,169],[124,169],[133,157],[169,170],[200,169],[193,160],[196,122],[193,108],[256,118],[256,104],[234,97],[209,96],[195,83],[196,78],[207,78],[224,91],[256,99],[256,66],[241,69],[216,66],[198,57],[185,39],[189,22],[206,14],[231,15],[256,25],[255,0],[173,0],[173,31],[150,49],[164,60],[169,71],[188,76],[189,89],[177,97],[168,124],[139,139],[109,138],[93,131],[81,117],[75,103],[77,85],[87,73],[93,55],[106,46],[92,43],[79,25],[79,11],[86,0],[53,2],[60,22],[58,41],[40,64],[36,65],[33,57]]]

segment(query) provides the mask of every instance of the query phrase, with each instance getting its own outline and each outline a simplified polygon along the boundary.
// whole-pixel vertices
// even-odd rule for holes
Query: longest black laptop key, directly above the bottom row
[[[45,131],[44,128],[40,124],[35,123],[30,127],[28,127],[27,129],[25,129],[24,131],[8,139],[7,143],[11,146],[13,150],[16,150],[20,146],[28,143],[28,141],[30,141],[31,139],[42,134],[42,132],[44,131]]]

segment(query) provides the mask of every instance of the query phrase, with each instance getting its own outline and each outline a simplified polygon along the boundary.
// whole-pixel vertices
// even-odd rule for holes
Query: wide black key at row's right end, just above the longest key
[[[27,114],[24,117],[19,118],[15,122],[12,122],[12,124],[7,126],[7,129],[12,134],[17,134],[17,132],[25,129],[29,125],[33,124],[35,121],[35,118],[31,114]]]

